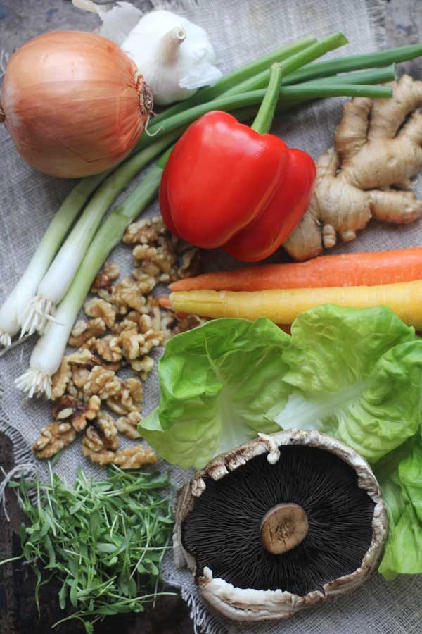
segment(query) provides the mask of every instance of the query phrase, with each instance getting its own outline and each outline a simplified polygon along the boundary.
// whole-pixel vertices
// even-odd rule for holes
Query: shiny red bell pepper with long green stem
[[[269,88],[252,128],[219,111],[193,123],[174,146],[160,185],[167,228],[197,247],[224,247],[243,261],[274,253],[300,222],[315,180],[311,156],[269,130],[281,82]]]

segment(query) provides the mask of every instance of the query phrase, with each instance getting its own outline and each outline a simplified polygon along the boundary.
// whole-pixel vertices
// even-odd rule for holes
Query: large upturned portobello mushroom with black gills
[[[265,621],[359,587],[386,536],[362,456],[328,435],[288,430],[217,456],[181,489],[174,558],[224,616]]]

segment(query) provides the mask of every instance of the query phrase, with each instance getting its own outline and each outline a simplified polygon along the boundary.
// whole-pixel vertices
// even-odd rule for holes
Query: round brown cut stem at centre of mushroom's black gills
[[[262,518],[260,539],[271,554],[283,554],[307,536],[308,517],[299,504],[276,504]]]

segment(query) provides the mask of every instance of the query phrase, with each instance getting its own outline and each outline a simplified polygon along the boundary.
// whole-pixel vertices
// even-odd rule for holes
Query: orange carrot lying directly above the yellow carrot
[[[422,279],[422,247],[321,256],[307,262],[263,264],[204,273],[173,282],[172,291],[255,291],[271,288],[378,286]]]

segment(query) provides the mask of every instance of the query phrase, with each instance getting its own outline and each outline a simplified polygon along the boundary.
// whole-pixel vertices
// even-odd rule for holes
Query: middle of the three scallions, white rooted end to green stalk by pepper
[[[123,163],[98,187],[84,209],[84,213],[53,259],[49,270],[39,283],[37,294],[30,299],[23,312],[18,315],[22,336],[26,332],[31,335],[33,332],[44,331],[47,321],[54,318],[56,304],[65,296],[110,204],[129,185],[136,174],[180,134],[181,129],[176,128],[156,140],[148,148]],[[60,318],[58,320],[60,321]]]

